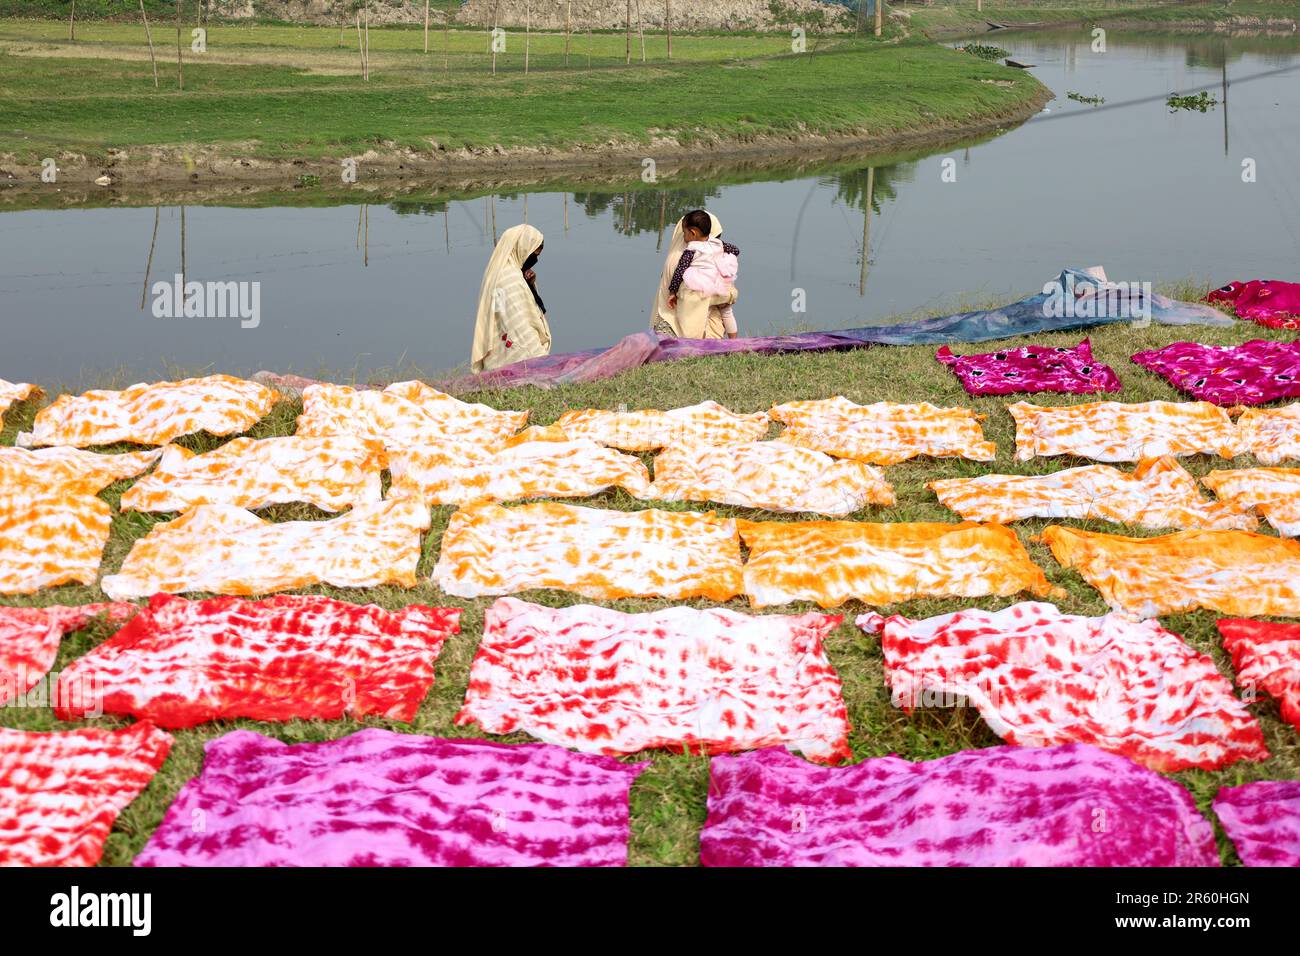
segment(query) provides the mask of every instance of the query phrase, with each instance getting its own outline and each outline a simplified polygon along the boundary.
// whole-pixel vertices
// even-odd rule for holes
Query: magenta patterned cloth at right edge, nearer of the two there
[[[1300,395],[1300,341],[1174,342],[1132,359],[1192,398],[1214,405],[1264,405]]]

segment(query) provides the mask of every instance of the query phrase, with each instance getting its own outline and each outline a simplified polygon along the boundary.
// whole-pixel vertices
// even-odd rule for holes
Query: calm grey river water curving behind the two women
[[[1067,265],[1157,285],[1300,278],[1300,39],[1113,29],[1104,52],[1093,39],[1084,27],[985,38],[1034,64],[1057,99],[1002,135],[904,159],[628,193],[186,207],[186,278],[260,284],[256,328],[155,316],[150,286],[182,265],[181,207],[4,212],[0,377],[57,388],[203,369],[450,369],[468,359],[494,228],[525,215],[546,235],[538,276],[556,351],[647,325],[668,242],[659,222],[671,230],[696,206],[742,250],[737,316],[750,334],[983,304]],[[1167,108],[1167,94],[1200,88],[1217,105]]]

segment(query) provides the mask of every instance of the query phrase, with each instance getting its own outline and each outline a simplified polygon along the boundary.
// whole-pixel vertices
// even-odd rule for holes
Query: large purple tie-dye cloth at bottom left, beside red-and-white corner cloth
[[[623,866],[646,766],[386,730],[204,754],[136,866]]]

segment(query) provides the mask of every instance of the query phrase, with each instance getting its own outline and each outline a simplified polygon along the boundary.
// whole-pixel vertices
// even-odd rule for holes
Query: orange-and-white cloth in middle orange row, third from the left
[[[430,505],[467,505],[478,498],[584,498],[608,488],[644,497],[645,463],[590,438],[568,438],[555,428],[529,428],[506,442],[448,438],[389,453],[390,498]]]

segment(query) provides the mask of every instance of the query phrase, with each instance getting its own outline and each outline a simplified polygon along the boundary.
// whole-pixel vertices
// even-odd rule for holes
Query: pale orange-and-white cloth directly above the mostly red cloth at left
[[[278,524],[231,505],[200,505],[153,525],[101,587],[114,601],[159,592],[266,594],[312,584],[412,588],[428,529],[429,509],[415,499]]]

